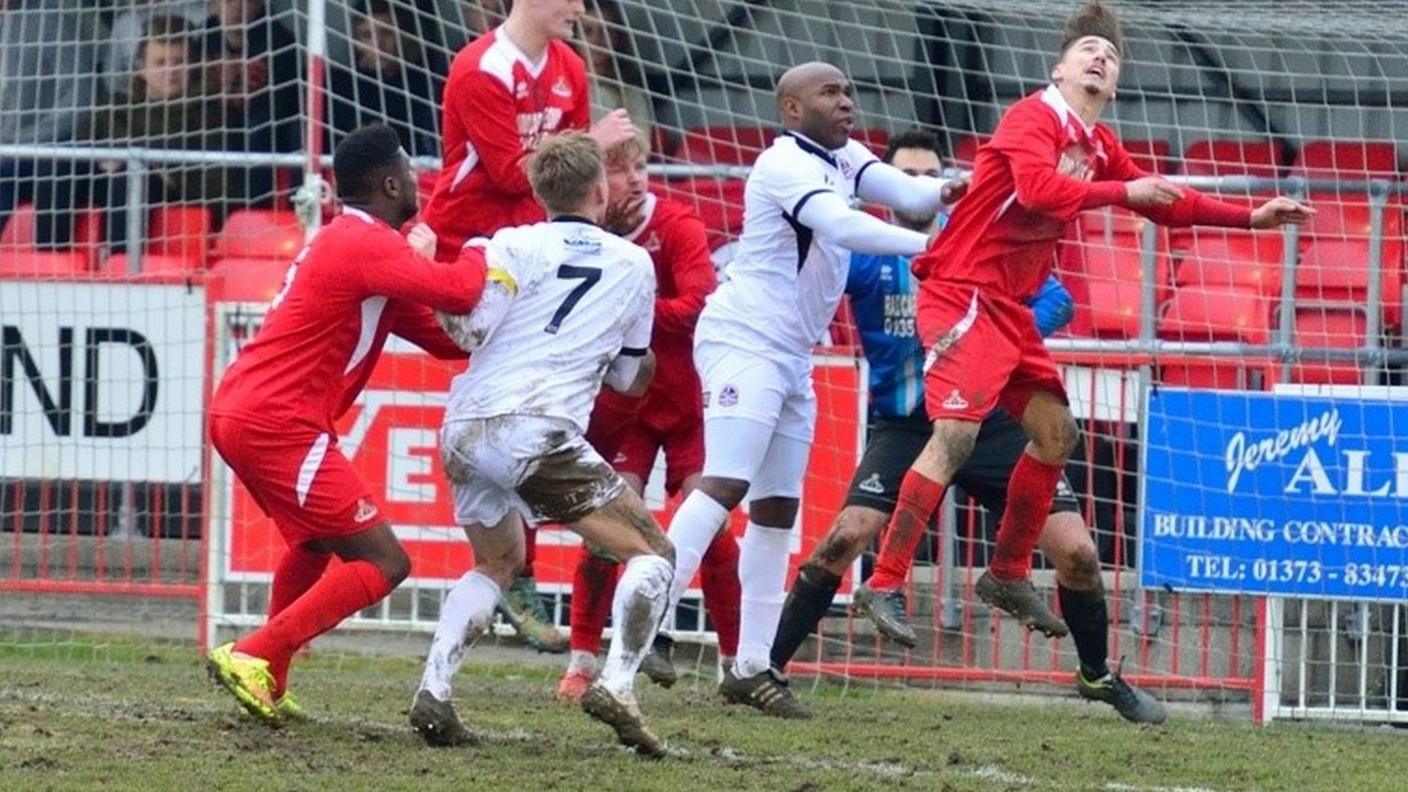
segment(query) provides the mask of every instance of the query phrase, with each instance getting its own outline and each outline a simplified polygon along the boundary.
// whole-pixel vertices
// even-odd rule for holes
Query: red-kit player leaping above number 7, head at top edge
[[[451,63],[441,113],[445,165],[424,213],[441,261],[470,238],[546,220],[524,161],[543,137],[591,123],[586,65],[565,41],[583,13],[582,0],[517,0],[503,25],[469,42]],[[636,131],[617,110],[589,134],[610,151]],[[529,645],[562,652],[567,641],[552,627],[534,582],[534,530],[527,540],[522,575],[504,593],[501,610]]]

